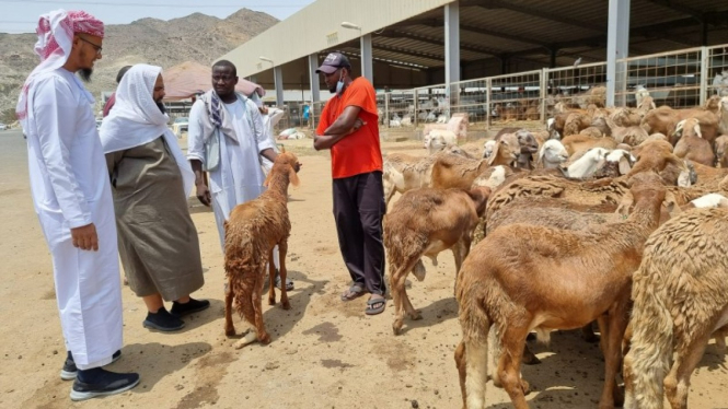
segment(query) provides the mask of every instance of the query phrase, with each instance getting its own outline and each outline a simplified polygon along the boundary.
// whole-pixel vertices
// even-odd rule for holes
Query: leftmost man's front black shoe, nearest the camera
[[[139,384],[139,374],[118,374],[101,367],[79,371],[73,381],[71,400],[85,400],[99,396],[115,395],[129,390]]]

